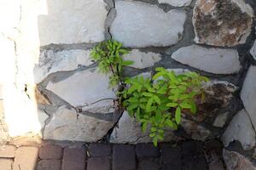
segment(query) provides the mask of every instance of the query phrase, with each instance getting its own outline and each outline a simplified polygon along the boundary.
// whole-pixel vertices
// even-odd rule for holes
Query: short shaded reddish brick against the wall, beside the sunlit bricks
[[[40,159],[61,159],[62,148],[58,145],[47,144],[39,150]]]

